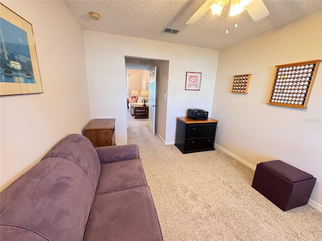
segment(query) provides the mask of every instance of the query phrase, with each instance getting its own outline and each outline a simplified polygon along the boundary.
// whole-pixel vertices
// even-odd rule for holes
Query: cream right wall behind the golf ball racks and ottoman
[[[220,51],[212,117],[215,142],[256,166],[280,159],[317,178],[322,205],[320,65],[307,109],[267,105],[275,65],[322,58],[322,13]],[[249,93],[230,93],[232,75],[252,74]]]

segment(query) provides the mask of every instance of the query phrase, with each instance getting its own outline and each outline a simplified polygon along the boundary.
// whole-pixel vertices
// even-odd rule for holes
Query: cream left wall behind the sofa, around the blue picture
[[[2,1],[33,26],[42,94],[0,97],[1,189],[90,121],[83,31],[62,1]]]

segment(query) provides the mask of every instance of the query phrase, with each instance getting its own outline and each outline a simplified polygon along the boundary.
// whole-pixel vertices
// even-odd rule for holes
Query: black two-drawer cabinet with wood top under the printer
[[[175,146],[183,154],[215,150],[217,123],[212,118],[197,121],[188,117],[177,117]]]

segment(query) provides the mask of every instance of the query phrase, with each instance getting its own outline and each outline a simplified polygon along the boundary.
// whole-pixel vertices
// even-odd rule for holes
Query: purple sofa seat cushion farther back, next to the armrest
[[[97,193],[147,185],[141,159],[102,164]]]

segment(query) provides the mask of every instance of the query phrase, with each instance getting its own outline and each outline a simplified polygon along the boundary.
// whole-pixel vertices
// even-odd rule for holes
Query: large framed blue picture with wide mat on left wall
[[[42,93],[32,25],[0,7],[0,95]]]

